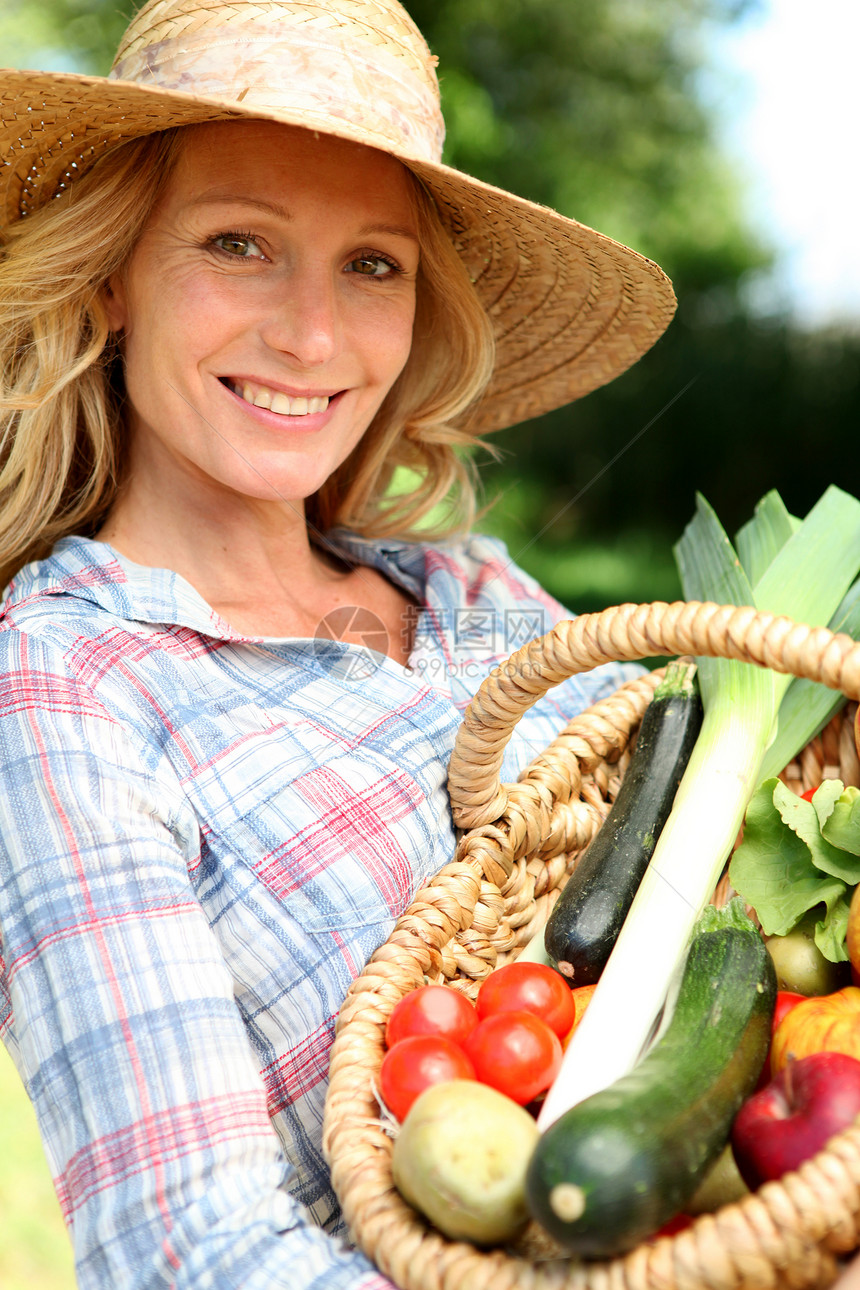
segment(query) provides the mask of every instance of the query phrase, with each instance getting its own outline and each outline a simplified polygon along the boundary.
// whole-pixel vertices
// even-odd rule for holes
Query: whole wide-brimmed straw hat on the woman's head
[[[0,74],[0,221],[116,143],[262,117],[382,148],[436,199],[493,319],[498,359],[471,424],[499,430],[605,384],[674,312],[645,257],[441,164],[436,59],[397,0],[150,0],[108,77]]]

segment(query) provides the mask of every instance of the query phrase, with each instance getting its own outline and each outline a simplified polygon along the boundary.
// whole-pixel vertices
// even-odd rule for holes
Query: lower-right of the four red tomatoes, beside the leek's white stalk
[[[464,1047],[477,1078],[521,1107],[545,1093],[561,1067],[561,1040],[534,1013],[485,1017]]]

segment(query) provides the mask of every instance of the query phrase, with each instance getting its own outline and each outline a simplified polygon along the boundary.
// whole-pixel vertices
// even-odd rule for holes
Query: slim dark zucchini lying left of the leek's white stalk
[[[593,986],[621,930],[701,726],[695,664],[676,659],[645,710],[612,808],[567,880],[544,947],[571,986]]]

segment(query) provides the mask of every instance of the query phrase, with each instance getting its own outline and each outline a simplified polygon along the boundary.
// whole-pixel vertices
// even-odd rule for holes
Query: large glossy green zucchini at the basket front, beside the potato
[[[705,915],[661,1038],[551,1125],[529,1164],[533,1216],[580,1258],[624,1254],[683,1211],[765,1063],[771,957],[740,902]]]

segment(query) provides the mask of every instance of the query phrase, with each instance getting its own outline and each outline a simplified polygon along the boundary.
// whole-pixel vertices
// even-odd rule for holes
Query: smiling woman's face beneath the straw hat
[[[130,486],[315,493],[409,357],[418,259],[393,157],[260,121],[184,130],[106,297],[122,333]]]

